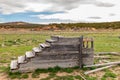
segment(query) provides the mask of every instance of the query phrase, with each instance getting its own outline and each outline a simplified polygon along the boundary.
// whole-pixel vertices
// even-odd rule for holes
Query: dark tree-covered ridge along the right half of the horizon
[[[68,24],[54,24],[59,28],[103,28],[103,29],[120,29],[120,22],[102,22],[102,23],[68,23]]]

